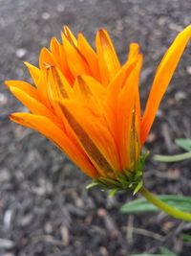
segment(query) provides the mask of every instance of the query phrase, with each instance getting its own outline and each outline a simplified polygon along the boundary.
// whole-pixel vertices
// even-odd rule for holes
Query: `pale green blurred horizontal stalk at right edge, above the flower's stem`
[[[186,159],[190,159],[190,158],[191,158],[191,151],[180,153],[180,154],[175,154],[175,155],[155,154],[153,157],[153,159],[155,161],[168,162],[168,163],[178,162],[178,161],[182,161],[182,160],[186,160]]]

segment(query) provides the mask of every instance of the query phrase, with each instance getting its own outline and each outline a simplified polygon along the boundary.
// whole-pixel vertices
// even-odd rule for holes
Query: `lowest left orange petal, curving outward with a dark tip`
[[[93,178],[96,178],[96,170],[88,157],[78,149],[66,134],[58,128],[52,120],[40,115],[28,113],[15,113],[11,115],[11,120],[22,126],[33,128],[47,138],[53,141],[62,151],[65,151],[74,163],[80,167],[82,171]]]

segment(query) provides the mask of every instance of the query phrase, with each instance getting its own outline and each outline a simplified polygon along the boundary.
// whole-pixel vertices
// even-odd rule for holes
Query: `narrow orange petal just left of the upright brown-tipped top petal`
[[[86,61],[88,62],[90,69],[92,71],[93,77],[97,81],[100,81],[98,58],[91,45],[88,43],[86,38],[81,33],[78,34],[77,48],[82,53],[84,58],[86,58]]]

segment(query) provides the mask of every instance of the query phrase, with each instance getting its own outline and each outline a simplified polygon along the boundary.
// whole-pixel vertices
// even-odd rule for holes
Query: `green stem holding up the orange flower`
[[[148,201],[156,205],[160,210],[167,213],[168,215],[171,215],[174,218],[180,219],[183,221],[191,221],[190,213],[185,213],[174,207],[171,207],[170,205],[168,205],[167,203],[163,202],[158,197],[156,197],[154,194],[149,192],[145,187],[141,187],[141,189],[139,190],[139,193]]]

